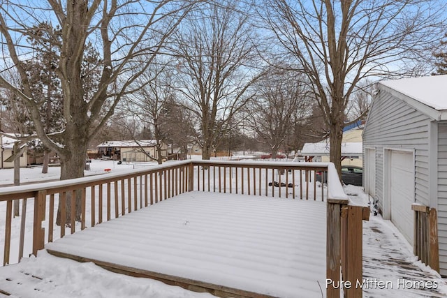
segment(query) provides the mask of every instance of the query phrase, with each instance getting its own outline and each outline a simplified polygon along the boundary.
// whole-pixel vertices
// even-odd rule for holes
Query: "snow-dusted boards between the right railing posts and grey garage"
[[[363,222],[363,297],[447,297],[447,280],[413,255],[390,221]]]

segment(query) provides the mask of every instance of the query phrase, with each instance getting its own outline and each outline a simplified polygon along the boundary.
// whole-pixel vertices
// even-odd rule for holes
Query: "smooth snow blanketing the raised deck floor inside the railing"
[[[264,295],[321,297],[325,206],[190,192],[45,248]]]

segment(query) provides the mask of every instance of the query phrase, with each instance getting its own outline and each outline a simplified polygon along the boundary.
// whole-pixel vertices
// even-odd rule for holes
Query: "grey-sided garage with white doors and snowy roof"
[[[365,191],[415,246],[412,204],[437,210],[447,276],[447,75],[379,82],[363,131]]]

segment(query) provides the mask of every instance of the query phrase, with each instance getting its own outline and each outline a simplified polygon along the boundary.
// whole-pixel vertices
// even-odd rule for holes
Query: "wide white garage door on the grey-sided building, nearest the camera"
[[[391,221],[413,246],[413,154],[393,150],[390,159]]]

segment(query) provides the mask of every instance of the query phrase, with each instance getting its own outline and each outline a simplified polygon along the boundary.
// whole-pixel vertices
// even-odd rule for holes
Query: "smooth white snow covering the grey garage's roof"
[[[418,100],[434,110],[447,110],[447,75],[410,77],[382,81],[379,84]]]

